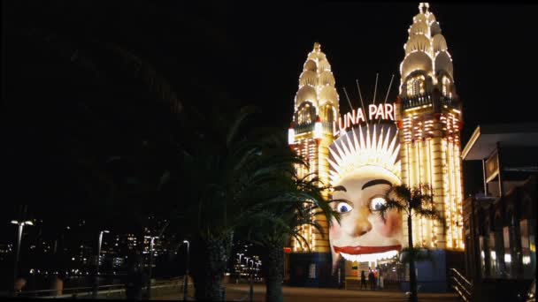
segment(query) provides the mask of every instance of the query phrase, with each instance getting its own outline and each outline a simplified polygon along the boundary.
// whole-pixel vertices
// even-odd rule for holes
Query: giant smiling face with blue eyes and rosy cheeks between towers
[[[331,207],[341,214],[333,218],[329,241],[333,269],[340,260],[373,261],[396,255],[402,248],[402,215],[387,213],[383,222],[376,211],[386,202],[391,185],[400,180],[379,166],[363,166],[334,185]]]

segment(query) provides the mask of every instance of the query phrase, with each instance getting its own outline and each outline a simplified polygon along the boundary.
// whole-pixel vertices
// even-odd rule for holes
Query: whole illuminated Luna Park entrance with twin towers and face
[[[460,156],[460,130],[463,125],[461,102],[456,93],[447,43],[434,14],[429,11],[428,4],[419,4],[419,14],[413,18],[404,51],[396,103],[376,103],[376,100],[373,100],[367,107],[352,109],[341,116],[339,95],[334,88],[331,66],[327,56],[321,52],[319,43],[315,43],[299,77],[294,117],[288,129],[288,144],[309,163],[308,170],[297,168],[299,175],[318,175],[325,185],[340,186],[342,182],[347,182],[350,187],[356,187],[350,180],[346,180],[349,176],[356,183],[390,180],[392,184],[403,183],[411,187],[419,184],[430,185],[431,192],[428,193],[434,195],[434,207],[442,213],[446,227],[427,219],[414,218],[413,245],[458,253],[464,249]],[[388,140],[391,127],[394,140]],[[385,134],[381,129],[384,129]],[[362,136],[367,142],[365,145],[365,141],[361,141]],[[370,168],[364,170],[364,166]],[[371,169],[373,166],[375,169]],[[383,173],[378,173],[380,170],[383,170]],[[390,175],[394,177],[388,177]],[[365,197],[365,193],[360,192],[356,195],[360,197],[355,198],[349,191],[348,189],[342,193],[342,196],[347,194],[346,198],[356,203],[334,206],[346,215],[357,215],[353,214],[357,213],[357,207],[364,206],[361,203],[363,201],[357,200],[366,200],[365,203],[371,203],[372,200],[382,202],[379,196]],[[326,192],[325,197],[332,197],[330,194],[332,195]],[[356,210],[351,212],[354,209]],[[355,222],[347,219],[349,225],[343,223],[338,227],[342,229],[338,230],[338,236],[343,234],[342,236],[348,238],[344,240],[345,247],[341,248],[336,245],[342,240],[339,239],[339,243],[331,238],[334,230],[331,227],[329,231],[325,217],[312,215],[312,220],[321,224],[323,235],[311,226],[304,226],[301,234],[306,242],[291,242],[290,261],[293,263],[295,257],[296,260],[304,262],[303,268],[297,271],[313,272],[309,274],[318,278],[316,263],[319,264],[320,270],[325,271],[327,267],[319,261],[332,260],[334,275],[336,270],[348,270],[350,267],[339,266],[341,256],[349,262],[358,261],[358,267],[364,267],[361,264],[363,260],[373,260],[374,266],[377,266],[378,260],[384,259],[380,258],[381,256],[388,253],[392,255],[407,246],[407,223],[401,223],[402,220],[397,220],[402,227],[394,228],[394,234],[375,237],[376,232],[379,235],[387,230],[375,230],[373,216],[364,215],[360,219],[373,226],[361,233],[362,235],[344,234],[346,228],[354,228],[350,225]],[[403,236],[401,240],[396,240],[398,232]],[[319,257],[319,254],[323,256]],[[329,258],[327,255],[331,254]],[[305,264],[309,263],[308,261],[310,264]],[[365,268],[373,268],[373,264],[370,263]],[[346,272],[345,275],[337,275],[340,280],[341,276],[349,274]],[[442,280],[444,276],[440,278]]]

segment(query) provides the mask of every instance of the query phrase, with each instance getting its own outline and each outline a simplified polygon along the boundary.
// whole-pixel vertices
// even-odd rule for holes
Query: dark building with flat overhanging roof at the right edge
[[[480,125],[465,161],[482,162],[483,190],[464,202],[465,272],[473,283],[527,284],[536,273],[538,124]]]

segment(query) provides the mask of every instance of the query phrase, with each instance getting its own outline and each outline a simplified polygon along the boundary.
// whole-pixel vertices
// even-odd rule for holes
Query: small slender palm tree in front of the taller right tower
[[[433,219],[444,224],[442,215],[434,209],[434,198],[427,192],[431,192],[429,185],[418,185],[416,187],[409,187],[407,185],[394,185],[387,193],[387,203],[379,210],[381,219],[385,221],[388,211],[397,211],[404,213],[407,217],[407,231],[408,231],[408,257],[409,261],[409,280],[411,288],[410,301],[416,302],[417,296],[417,276],[415,274],[415,261],[419,251],[413,247],[413,230],[412,230],[412,217],[424,217],[427,219]]]

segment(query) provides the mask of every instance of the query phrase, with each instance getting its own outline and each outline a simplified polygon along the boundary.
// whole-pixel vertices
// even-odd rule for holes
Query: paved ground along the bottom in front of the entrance
[[[226,300],[227,301],[249,301],[250,287],[248,284],[226,284]],[[284,301],[297,302],[346,302],[346,301],[407,301],[407,296],[399,291],[345,291],[336,289],[317,289],[304,287],[289,287],[284,286]],[[189,296],[192,298],[194,292],[189,291]],[[181,294],[173,294],[168,296],[153,297],[158,300],[180,300],[183,298]],[[194,298],[192,298],[194,299]],[[254,301],[265,301],[265,285],[254,285]],[[454,293],[446,294],[430,294],[419,293],[419,301],[444,301],[444,302],[459,302],[457,295]]]

